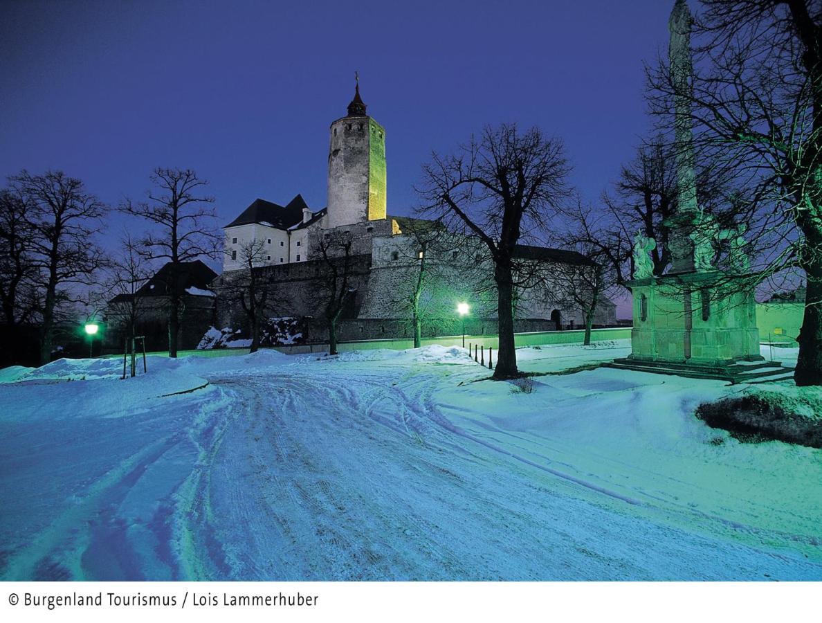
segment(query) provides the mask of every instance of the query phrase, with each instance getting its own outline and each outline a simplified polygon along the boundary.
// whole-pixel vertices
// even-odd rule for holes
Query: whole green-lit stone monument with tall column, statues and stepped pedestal
[[[668,50],[674,95],[677,210],[664,225],[672,265],[653,275],[652,238],[637,235],[631,353],[612,365],[630,370],[714,378],[724,381],[783,374],[778,363],[764,362],[753,292],[729,281],[714,265],[718,240],[726,240],[733,275],[747,270],[744,228],[720,232],[712,215],[700,210],[696,194],[694,138],[691,130],[691,17],[686,0],[676,0],[668,21]]]

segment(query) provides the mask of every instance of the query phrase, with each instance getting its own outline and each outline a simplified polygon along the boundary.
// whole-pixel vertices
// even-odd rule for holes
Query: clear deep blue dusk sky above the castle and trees
[[[210,180],[220,224],[260,196],[326,202],[328,126],[361,76],[389,213],[432,149],[491,122],[561,136],[595,200],[649,121],[667,0],[2,2],[0,175],[62,169],[139,198],[158,165]],[[118,217],[120,228],[124,217]]]

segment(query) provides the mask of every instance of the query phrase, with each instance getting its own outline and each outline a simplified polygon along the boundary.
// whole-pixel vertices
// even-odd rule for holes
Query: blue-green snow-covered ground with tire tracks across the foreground
[[[0,371],[2,579],[822,579],[822,450],[693,417],[739,385],[526,394],[437,346],[121,366]]]

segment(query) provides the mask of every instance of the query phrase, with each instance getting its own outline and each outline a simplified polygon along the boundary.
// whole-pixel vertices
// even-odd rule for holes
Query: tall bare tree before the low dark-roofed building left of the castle
[[[208,184],[189,168],[155,168],[151,174],[155,189],[148,201],[128,201],[122,210],[148,220],[159,229],[142,242],[143,252],[152,260],[165,260],[169,270],[169,357],[177,357],[182,302],[183,262],[215,257],[221,238],[216,233],[216,215],[210,204],[214,198],[201,194]]]

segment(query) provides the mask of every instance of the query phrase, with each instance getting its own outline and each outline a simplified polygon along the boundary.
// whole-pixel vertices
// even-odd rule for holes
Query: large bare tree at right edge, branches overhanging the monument
[[[649,72],[653,111],[672,99],[695,143],[732,166],[737,219],[761,252],[750,277],[799,267],[807,281],[797,385],[822,384],[822,12],[810,0],[703,0],[687,89],[667,63]],[[683,99],[684,98],[684,99]]]

